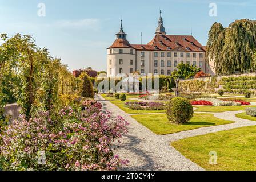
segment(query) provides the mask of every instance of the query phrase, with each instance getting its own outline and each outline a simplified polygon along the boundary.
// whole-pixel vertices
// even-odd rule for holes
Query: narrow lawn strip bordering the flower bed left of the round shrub
[[[102,97],[106,100],[109,100],[111,103],[115,104],[128,114],[143,114],[143,113],[165,113],[165,110],[131,110],[125,107],[125,102],[139,102],[138,100],[132,100],[134,97],[127,96],[127,100],[125,102],[115,99],[114,97],[106,97],[106,94],[102,94]],[[129,100],[130,99],[130,100]]]

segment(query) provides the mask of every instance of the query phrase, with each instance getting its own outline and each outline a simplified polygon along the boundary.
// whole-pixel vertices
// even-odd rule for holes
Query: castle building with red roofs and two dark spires
[[[123,31],[120,31],[114,43],[107,48],[107,76],[119,73],[158,73],[171,75],[179,63],[195,65],[205,73],[214,72],[206,61],[205,46],[191,35],[167,35],[163,27],[162,12],[153,40],[147,44],[130,44]]]

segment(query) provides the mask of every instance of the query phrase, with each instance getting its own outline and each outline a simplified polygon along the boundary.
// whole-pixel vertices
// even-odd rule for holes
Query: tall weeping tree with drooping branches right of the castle
[[[209,32],[206,56],[214,60],[216,73],[245,71],[256,68],[255,48],[255,20],[236,20],[227,28],[214,23]]]

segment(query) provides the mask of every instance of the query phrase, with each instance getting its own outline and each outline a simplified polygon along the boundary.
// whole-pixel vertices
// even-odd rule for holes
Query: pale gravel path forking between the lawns
[[[157,135],[99,94],[95,96],[95,99],[101,102],[103,109],[110,110],[113,115],[121,115],[130,123],[129,133],[121,139],[122,144],[119,144],[120,147],[117,151],[121,158],[129,159],[130,165],[121,170],[204,170],[170,146],[170,142],[196,135],[256,125],[254,121],[235,117],[235,114],[243,111],[212,113],[217,118],[229,119],[235,123],[202,127],[169,135]]]

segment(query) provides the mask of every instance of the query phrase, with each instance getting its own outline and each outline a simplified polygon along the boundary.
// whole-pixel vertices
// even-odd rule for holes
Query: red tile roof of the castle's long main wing
[[[183,40],[185,39],[185,40]],[[192,43],[192,44],[191,44]],[[193,51],[204,52],[203,47],[193,36],[191,35],[155,35],[154,39],[146,45],[131,44],[132,47],[138,50],[160,50],[160,51]],[[188,49],[187,49],[188,48]],[[201,48],[201,50],[199,49]]]

